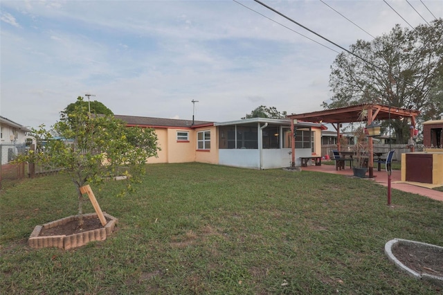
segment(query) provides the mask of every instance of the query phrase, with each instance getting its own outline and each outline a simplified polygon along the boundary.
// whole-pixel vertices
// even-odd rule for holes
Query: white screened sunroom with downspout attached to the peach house
[[[269,169],[291,164],[291,121],[250,118],[215,123],[218,129],[219,164]],[[320,124],[296,125],[296,155],[308,157],[320,152]],[[300,159],[296,159],[300,166]]]

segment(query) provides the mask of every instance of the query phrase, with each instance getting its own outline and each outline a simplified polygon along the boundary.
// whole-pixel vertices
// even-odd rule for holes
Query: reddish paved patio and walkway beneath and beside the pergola
[[[322,166],[307,166],[301,167],[302,171],[316,171],[316,172],[325,172],[325,173],[333,173],[338,175],[347,175],[349,177],[354,177],[352,173],[352,169],[347,166],[345,170],[336,170],[335,165],[322,165]],[[370,181],[376,181],[378,184],[382,186],[388,186],[388,175],[386,170],[381,169],[381,171],[377,171],[374,169],[373,178],[366,178]],[[412,183],[405,181],[401,181],[401,170],[392,170],[391,175],[391,187],[396,190],[402,190],[408,193],[415,193],[417,195],[422,195],[424,197],[429,197],[431,199],[435,199],[437,201],[443,202],[443,193],[438,190],[432,190],[431,186],[428,184],[422,183]]]

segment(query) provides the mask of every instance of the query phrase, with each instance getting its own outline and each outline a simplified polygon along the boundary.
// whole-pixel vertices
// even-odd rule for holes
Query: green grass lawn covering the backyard
[[[65,175],[0,195],[1,294],[437,294],[383,253],[392,238],[443,245],[443,202],[368,179],[202,163],[147,166],[133,195],[93,188],[118,218],[104,242],[33,250],[37,224],[75,215]],[[93,212],[90,204],[85,213]]]

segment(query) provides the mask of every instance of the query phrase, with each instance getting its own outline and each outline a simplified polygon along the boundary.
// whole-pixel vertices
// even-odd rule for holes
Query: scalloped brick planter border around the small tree
[[[33,249],[41,249],[46,247],[57,247],[60,249],[68,250],[77,247],[82,247],[85,244],[92,241],[103,241],[106,240],[108,235],[114,231],[118,219],[107,213],[103,213],[109,222],[105,227],[101,229],[95,229],[93,231],[84,231],[83,233],[75,233],[73,235],[48,235],[39,237],[42,229],[51,229],[52,227],[58,226],[60,224],[66,224],[72,220],[78,220],[79,215],[71,215],[69,217],[62,218],[61,220],[55,220],[53,222],[48,222],[47,224],[37,225],[34,231],[30,234],[28,239],[29,247]],[[97,216],[96,213],[84,214],[84,217]]]

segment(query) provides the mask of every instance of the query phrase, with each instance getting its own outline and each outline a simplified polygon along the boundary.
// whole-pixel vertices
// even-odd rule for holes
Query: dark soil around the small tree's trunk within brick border
[[[80,229],[78,227],[78,220],[71,220],[70,222],[66,222],[66,224],[60,224],[51,229],[43,228],[39,234],[39,237],[48,236],[48,235],[73,235],[75,233],[83,233],[84,231],[93,231],[95,229],[102,229],[102,223],[98,219],[97,216],[93,217],[83,217],[84,224]],[[109,219],[106,219],[109,222]]]

